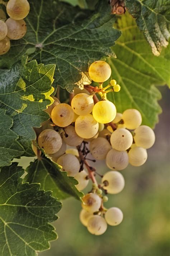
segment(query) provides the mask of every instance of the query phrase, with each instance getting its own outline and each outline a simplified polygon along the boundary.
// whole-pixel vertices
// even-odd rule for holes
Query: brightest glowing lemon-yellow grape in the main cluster
[[[93,108],[94,119],[102,124],[110,123],[116,116],[115,105],[108,100],[101,100],[94,105]]]

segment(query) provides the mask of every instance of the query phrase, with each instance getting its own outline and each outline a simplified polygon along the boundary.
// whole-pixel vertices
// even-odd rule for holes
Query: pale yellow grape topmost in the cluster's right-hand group
[[[137,109],[125,110],[122,119],[127,129],[136,129],[142,123],[141,113]]]

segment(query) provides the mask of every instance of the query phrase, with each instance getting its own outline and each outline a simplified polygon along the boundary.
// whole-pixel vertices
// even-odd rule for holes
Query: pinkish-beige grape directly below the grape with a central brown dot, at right
[[[127,151],[111,149],[106,156],[106,164],[110,169],[123,170],[129,164]]]

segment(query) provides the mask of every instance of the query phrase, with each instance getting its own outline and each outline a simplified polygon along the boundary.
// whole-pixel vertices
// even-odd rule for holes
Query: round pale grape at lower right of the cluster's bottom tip
[[[105,213],[105,220],[110,226],[117,226],[123,220],[123,212],[117,207],[109,208]]]

